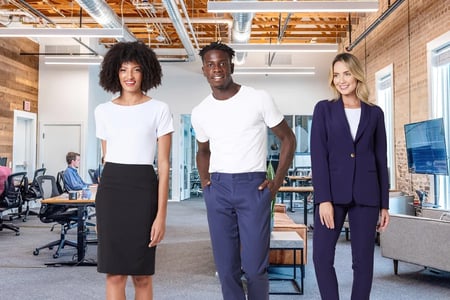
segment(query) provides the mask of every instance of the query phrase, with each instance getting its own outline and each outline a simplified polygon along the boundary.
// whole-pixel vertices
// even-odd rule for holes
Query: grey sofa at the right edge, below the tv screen
[[[399,261],[450,271],[449,234],[449,211],[422,208],[420,217],[392,214],[380,234],[381,255],[393,260],[395,274]]]

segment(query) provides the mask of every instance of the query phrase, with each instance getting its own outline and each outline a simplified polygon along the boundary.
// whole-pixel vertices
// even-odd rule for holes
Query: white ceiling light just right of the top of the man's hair
[[[337,52],[337,44],[230,44],[236,52]]]

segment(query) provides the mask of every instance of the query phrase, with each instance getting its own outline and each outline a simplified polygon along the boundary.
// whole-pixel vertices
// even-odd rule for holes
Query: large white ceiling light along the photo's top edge
[[[225,12],[375,12],[378,0],[341,1],[208,1],[209,13]]]

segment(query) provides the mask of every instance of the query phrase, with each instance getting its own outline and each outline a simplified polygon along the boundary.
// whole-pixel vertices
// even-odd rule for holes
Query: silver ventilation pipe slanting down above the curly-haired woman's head
[[[134,42],[136,37],[121,22],[114,10],[104,0],[76,0],[98,24],[104,28],[122,28],[123,37],[117,38],[119,42]]]

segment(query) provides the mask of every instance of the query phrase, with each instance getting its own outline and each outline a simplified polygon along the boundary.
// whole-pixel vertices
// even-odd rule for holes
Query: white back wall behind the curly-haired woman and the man
[[[323,68],[316,69],[315,76],[305,75],[235,75],[237,83],[267,90],[285,115],[310,115],[314,104],[329,98],[327,85],[328,65],[335,54],[323,54]],[[304,57],[306,59],[306,56]],[[305,65],[300,65],[305,66]],[[201,62],[162,63],[162,85],[149,92],[158,100],[167,102],[174,117],[173,145],[178,145],[180,115],[190,114],[192,108],[210,93],[201,73]],[[94,109],[112,95],[98,85],[98,66],[58,66],[40,64],[39,70],[39,123],[80,122],[84,124],[84,145],[81,151],[83,178],[88,179],[87,169],[98,165],[99,143],[95,138]],[[63,142],[63,141],[62,141]],[[64,157],[57,158],[64,160]],[[38,158],[39,161],[39,158]],[[179,178],[177,151],[173,151],[172,178]],[[179,199],[179,183],[174,180],[173,199]]]

